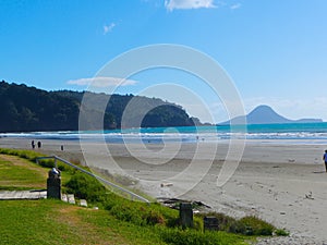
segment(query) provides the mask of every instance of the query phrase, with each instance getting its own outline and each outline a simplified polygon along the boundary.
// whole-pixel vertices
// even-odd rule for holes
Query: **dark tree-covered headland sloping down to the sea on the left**
[[[82,99],[86,93],[92,102],[85,107],[82,106]],[[137,103],[137,108],[130,112],[128,122],[123,124],[123,111],[131,99]],[[107,102],[104,112],[101,106]],[[77,131],[80,110],[90,114],[105,113],[104,123],[100,123],[104,127],[98,128],[99,123],[90,119],[87,130],[202,124],[181,106],[158,98],[71,90],[46,91],[24,84],[0,82],[0,132]],[[141,112],[146,112],[143,118],[140,118]]]

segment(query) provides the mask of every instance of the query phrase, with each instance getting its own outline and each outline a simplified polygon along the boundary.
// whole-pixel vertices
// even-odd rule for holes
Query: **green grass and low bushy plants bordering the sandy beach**
[[[0,149],[0,172],[5,170],[3,175],[7,176],[7,182],[0,181],[0,189],[44,186],[49,169],[33,163],[36,157],[34,151]],[[53,162],[44,161],[40,164],[51,167]],[[275,230],[253,217],[234,220],[221,213],[211,215],[221,221],[223,231],[203,232],[203,217],[194,218],[193,229],[183,230],[177,210],[159,204],[148,206],[126,200],[108,193],[101,184],[85,174],[65,166],[60,168],[65,189],[100,209],[81,208],[58,200],[1,200],[0,244],[227,245],[246,244],[255,236],[245,234],[270,235]],[[27,170],[32,171],[31,175],[26,174]]]

